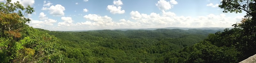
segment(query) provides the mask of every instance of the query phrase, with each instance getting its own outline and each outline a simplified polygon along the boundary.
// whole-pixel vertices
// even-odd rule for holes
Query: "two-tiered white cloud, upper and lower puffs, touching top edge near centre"
[[[122,7],[120,5],[123,5],[121,0],[114,0],[113,5],[108,5],[107,10],[112,14],[123,14],[125,10],[121,10]]]

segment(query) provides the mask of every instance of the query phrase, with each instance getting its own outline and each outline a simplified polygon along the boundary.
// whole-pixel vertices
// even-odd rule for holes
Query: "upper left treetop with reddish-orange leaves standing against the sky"
[[[34,11],[34,8],[29,5],[24,8],[19,1],[16,3],[11,3],[11,0],[7,0],[6,3],[0,2],[0,36],[6,37],[5,33],[19,34],[18,32],[25,27],[25,23],[30,21],[29,18],[24,16]]]

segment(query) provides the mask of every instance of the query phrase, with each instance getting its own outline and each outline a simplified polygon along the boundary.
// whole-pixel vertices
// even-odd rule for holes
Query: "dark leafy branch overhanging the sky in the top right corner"
[[[246,12],[244,17],[252,17],[252,20],[256,19],[256,0],[222,0],[219,7],[224,9],[222,12],[235,12],[242,13],[242,10]]]

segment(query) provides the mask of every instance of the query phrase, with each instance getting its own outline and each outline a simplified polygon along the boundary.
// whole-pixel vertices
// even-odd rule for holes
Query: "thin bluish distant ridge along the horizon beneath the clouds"
[[[230,27],[229,29],[232,29],[233,27]],[[166,28],[146,28],[146,29],[112,29],[112,30],[121,30],[121,31],[127,31],[127,30],[156,30],[156,29],[181,29],[181,30],[189,30],[189,29],[201,29],[201,30],[224,30],[226,28],[220,28],[220,27],[203,27],[203,28],[181,28],[181,27],[166,27]],[[110,30],[110,29],[103,29],[103,30]],[[80,30],[78,32],[82,31],[98,31],[98,30]]]

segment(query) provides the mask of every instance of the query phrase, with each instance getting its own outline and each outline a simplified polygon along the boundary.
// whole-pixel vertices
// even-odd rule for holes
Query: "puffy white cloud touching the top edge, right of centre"
[[[165,1],[165,0],[159,0],[156,3],[156,6],[160,9],[160,10],[169,10],[173,7],[174,4],[178,4],[177,1],[175,0],[171,0],[171,1]]]

